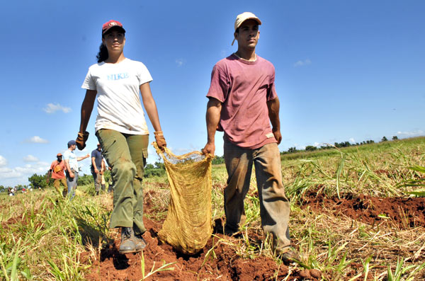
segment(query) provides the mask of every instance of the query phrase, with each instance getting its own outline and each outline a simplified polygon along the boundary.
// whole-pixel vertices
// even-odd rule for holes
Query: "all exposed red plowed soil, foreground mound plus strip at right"
[[[152,202],[147,201],[145,212],[149,214],[152,212]],[[344,215],[367,224],[388,223],[399,228],[425,227],[425,198],[378,198],[348,194],[339,199],[308,193],[301,203],[302,208],[310,207],[314,212]],[[196,256],[185,256],[159,241],[157,233],[162,222],[147,218],[144,222],[147,231],[143,236],[148,245],[143,256],[141,253],[118,253],[120,240],[117,233],[115,241],[104,246],[98,257],[90,258],[93,264],[86,280],[142,280],[142,259],[145,260],[145,275],[153,266],[157,269],[164,263],[174,263],[169,265],[174,270],[154,273],[146,280],[321,280],[318,270],[290,271],[287,265],[279,266],[275,260],[264,256],[254,260],[240,258],[227,243],[217,243],[220,238],[229,242],[233,239],[220,233],[216,233]],[[259,240],[263,238],[257,237]],[[212,248],[213,251],[210,251]],[[88,258],[89,253],[85,256]]]

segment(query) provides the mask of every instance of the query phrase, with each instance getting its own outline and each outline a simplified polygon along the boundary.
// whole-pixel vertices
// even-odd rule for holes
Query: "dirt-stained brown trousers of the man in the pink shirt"
[[[249,191],[254,164],[261,226],[264,232],[273,236],[273,250],[276,254],[285,253],[290,246],[290,205],[282,184],[278,144],[266,144],[258,149],[243,149],[225,138],[224,154],[228,175],[225,188],[225,229],[230,233],[235,232],[244,220],[244,198]]]

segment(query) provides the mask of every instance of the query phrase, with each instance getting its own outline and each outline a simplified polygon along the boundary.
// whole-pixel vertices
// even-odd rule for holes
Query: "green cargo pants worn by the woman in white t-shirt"
[[[135,234],[142,234],[146,231],[142,219],[142,178],[149,135],[101,129],[96,136],[103,157],[112,167],[111,176],[115,183],[110,227],[133,227]]]

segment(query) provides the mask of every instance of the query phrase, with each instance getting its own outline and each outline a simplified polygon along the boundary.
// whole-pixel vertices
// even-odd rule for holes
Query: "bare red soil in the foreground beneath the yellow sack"
[[[242,259],[234,250],[225,243],[217,243],[219,238],[229,241],[232,238],[222,234],[208,241],[203,251],[196,256],[185,256],[174,251],[168,244],[159,241],[157,231],[161,224],[145,219],[147,231],[143,235],[148,245],[143,251],[145,258],[145,275],[152,266],[159,268],[163,263],[174,263],[167,270],[155,273],[147,280],[274,280],[276,273],[278,280],[288,275],[288,267],[280,265],[271,258],[260,256],[254,260]],[[118,253],[120,241],[115,239],[113,243],[101,250],[100,257],[94,260],[91,272],[86,275],[86,280],[141,280],[141,253],[120,254]],[[214,252],[208,251],[214,247]],[[212,256],[215,254],[215,258]],[[84,256],[87,256],[84,255]],[[290,273],[287,280],[320,280],[321,273],[318,270],[302,270]]]

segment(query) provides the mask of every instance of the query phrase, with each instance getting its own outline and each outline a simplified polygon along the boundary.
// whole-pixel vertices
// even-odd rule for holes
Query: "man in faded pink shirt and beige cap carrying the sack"
[[[288,221],[290,205],[282,184],[279,99],[273,64],[255,53],[261,21],[254,13],[237,16],[234,40],[237,52],[215,64],[207,97],[208,142],[204,154],[215,152],[215,131],[224,131],[228,174],[225,188],[225,234],[239,231],[252,166],[256,171],[263,231],[273,238],[273,251],[293,260]],[[234,42],[233,40],[233,42]],[[233,45],[232,42],[232,45]],[[273,125],[273,127],[270,126]]]

